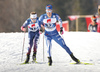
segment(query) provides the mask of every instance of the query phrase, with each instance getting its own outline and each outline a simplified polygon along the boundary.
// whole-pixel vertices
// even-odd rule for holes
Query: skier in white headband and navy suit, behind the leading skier
[[[27,57],[25,63],[29,62],[30,59],[30,53],[31,53],[31,48],[33,48],[33,56],[32,59],[33,61],[36,61],[36,52],[37,52],[37,42],[39,39],[39,22],[38,22],[38,17],[36,12],[31,12],[30,13],[30,18],[28,18],[24,24],[21,26],[22,31],[26,31],[26,27],[28,26],[28,38],[29,38],[29,47],[28,47],[28,52],[27,52]]]

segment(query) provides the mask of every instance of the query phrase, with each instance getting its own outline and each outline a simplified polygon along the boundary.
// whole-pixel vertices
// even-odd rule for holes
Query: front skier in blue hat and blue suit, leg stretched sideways
[[[57,42],[65,51],[71,56],[71,58],[76,62],[80,63],[80,60],[77,59],[73,53],[70,51],[69,47],[66,46],[65,41],[59,35],[56,30],[56,22],[59,21],[60,23],[60,34],[63,34],[63,27],[62,27],[62,20],[58,14],[52,13],[52,5],[48,4],[46,6],[46,14],[43,14],[39,17],[39,21],[44,24],[45,27],[45,39],[46,45],[48,48],[48,64],[52,65],[52,56],[51,56],[51,47],[52,43],[51,40],[53,39]]]

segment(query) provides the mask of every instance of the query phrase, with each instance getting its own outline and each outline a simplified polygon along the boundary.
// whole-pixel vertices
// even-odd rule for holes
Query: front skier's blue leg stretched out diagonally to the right
[[[69,49],[69,47],[66,46],[65,41],[63,40],[63,38],[61,38],[61,36],[59,34],[57,34],[56,36],[53,36],[53,39],[61,46],[63,47],[66,52],[71,56],[71,58],[77,62],[80,63],[79,59],[77,59],[73,53],[71,52],[71,50]]]

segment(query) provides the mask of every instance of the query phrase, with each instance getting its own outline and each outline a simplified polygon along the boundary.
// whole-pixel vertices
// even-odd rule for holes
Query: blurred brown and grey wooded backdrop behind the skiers
[[[69,31],[75,31],[75,20],[69,15],[94,15],[100,0],[0,0],[0,32],[20,32],[20,27],[35,11],[38,17],[45,13],[45,6],[51,4],[53,12],[63,21],[69,21]],[[85,18],[80,18],[79,31],[87,31]]]

